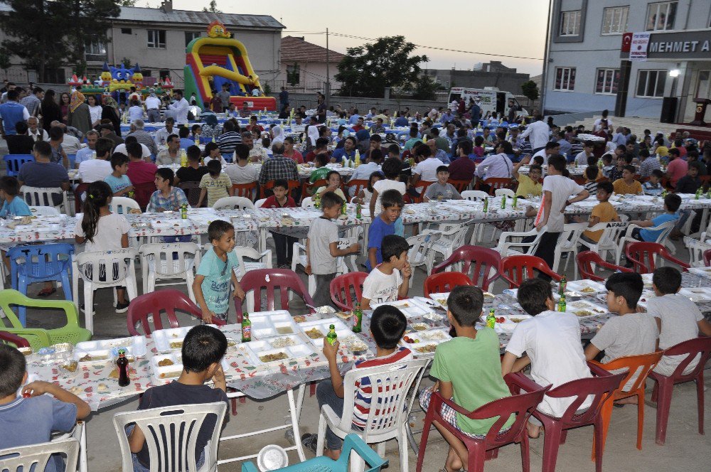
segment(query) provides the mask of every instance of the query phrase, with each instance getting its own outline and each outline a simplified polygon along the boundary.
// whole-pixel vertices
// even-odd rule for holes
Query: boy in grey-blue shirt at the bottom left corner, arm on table
[[[0,449],[48,442],[52,431],[71,431],[77,419],[91,413],[86,402],[58,385],[38,380],[23,387],[25,382],[25,356],[0,343]],[[44,472],[63,470],[59,455],[53,455],[44,468]]]

